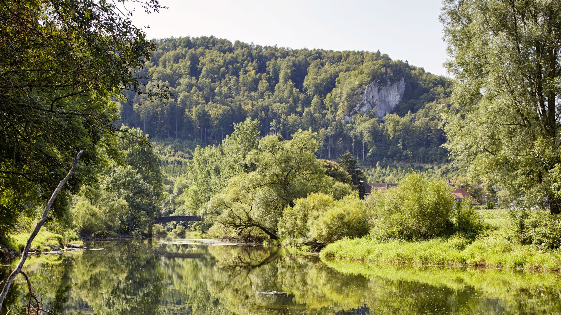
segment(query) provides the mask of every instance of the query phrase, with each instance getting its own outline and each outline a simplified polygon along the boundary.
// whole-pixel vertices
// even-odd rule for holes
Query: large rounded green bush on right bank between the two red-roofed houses
[[[375,238],[429,239],[454,231],[452,188],[442,180],[412,173],[397,187],[371,194],[367,204]]]

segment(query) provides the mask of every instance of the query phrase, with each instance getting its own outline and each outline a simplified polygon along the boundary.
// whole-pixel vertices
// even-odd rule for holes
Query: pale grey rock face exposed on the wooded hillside
[[[403,98],[405,92],[405,79],[401,78],[394,84],[378,85],[376,82],[366,86],[360,104],[345,116],[343,119],[350,122],[353,115],[358,112],[367,113],[371,109],[376,109],[376,117],[383,118],[385,114],[391,112]]]

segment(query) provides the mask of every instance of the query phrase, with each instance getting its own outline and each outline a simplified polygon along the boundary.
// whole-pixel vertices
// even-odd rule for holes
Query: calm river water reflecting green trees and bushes
[[[55,314],[561,314],[556,272],[322,261],[205,239],[93,242],[24,271]],[[27,303],[17,279],[4,303],[14,313]]]

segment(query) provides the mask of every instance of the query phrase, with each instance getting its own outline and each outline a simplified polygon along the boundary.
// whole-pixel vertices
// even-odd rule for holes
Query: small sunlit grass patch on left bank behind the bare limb
[[[27,242],[27,239],[30,235],[31,233],[19,233],[11,235],[10,239],[8,239],[7,245],[15,249],[16,251],[22,252],[25,248],[25,243]],[[33,239],[33,242],[31,242],[31,247],[29,250],[31,252],[48,252],[51,251],[52,248],[56,245],[63,248],[70,242],[83,245],[83,242],[79,239],[78,234],[76,233],[68,232],[65,234],[57,234],[41,229]]]

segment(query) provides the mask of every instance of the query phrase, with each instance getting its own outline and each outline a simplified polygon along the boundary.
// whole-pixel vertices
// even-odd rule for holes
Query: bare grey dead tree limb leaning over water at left
[[[78,155],[76,156],[76,159],[74,159],[74,163],[72,164],[72,167],[70,168],[70,171],[68,171],[68,174],[66,174],[65,178],[63,178],[61,180],[61,182],[58,183],[57,189],[54,189],[54,192],[53,192],[52,196],[50,196],[49,202],[47,202],[47,205],[45,206],[45,210],[43,210],[43,215],[41,216],[41,220],[39,220],[37,225],[35,225],[35,229],[33,230],[31,235],[27,239],[27,243],[25,244],[24,252],[21,253],[20,261],[17,263],[16,268],[12,271],[10,276],[8,276],[8,279],[6,279],[6,284],[4,284],[4,288],[2,289],[2,293],[0,293],[0,309],[2,309],[2,304],[4,303],[4,298],[6,298],[6,295],[8,294],[8,290],[10,289],[10,286],[12,285],[13,279],[15,279],[17,274],[19,274],[21,272],[21,268],[24,266],[25,260],[27,259],[27,254],[29,253],[29,248],[31,247],[31,242],[33,242],[33,239],[39,233],[39,230],[43,226],[43,223],[45,223],[45,220],[47,220],[47,214],[49,213],[50,206],[53,205],[54,199],[57,197],[57,194],[61,191],[62,186],[64,186],[64,184],[66,184],[68,179],[70,177],[72,177],[72,174],[74,173],[74,169],[76,168],[76,165],[78,164],[78,160],[80,160],[80,156],[82,155],[82,153],[84,153],[84,150],[81,150],[80,152],[78,152]]]

